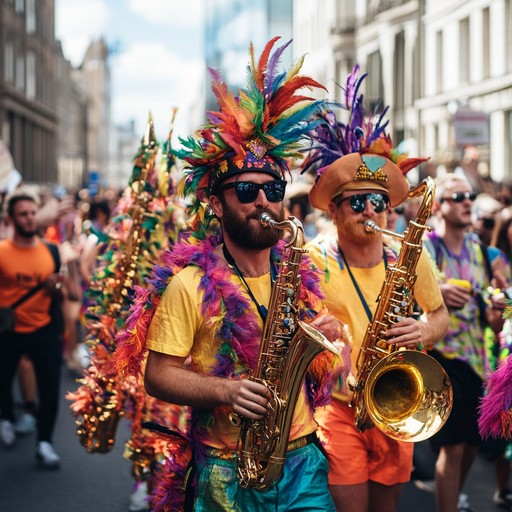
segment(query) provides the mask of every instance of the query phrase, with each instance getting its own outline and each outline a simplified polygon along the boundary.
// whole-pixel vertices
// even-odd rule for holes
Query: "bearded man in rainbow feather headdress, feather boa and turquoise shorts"
[[[247,378],[256,373],[262,327],[272,314],[267,311],[272,283],[285,249],[281,232],[260,219],[266,213],[272,223],[284,221],[286,157],[296,154],[299,130],[307,133],[316,106],[295,92],[304,85],[320,87],[295,76],[298,68],[283,81],[284,74],[267,66],[276,39],[267,44],[258,68],[251,55],[248,91],[237,98],[212,73],[220,112],[211,112],[199,138],[182,141],[184,149],[177,152],[187,164],[183,194],[195,201],[198,217],[190,240],[164,259],[165,291],[147,333],[146,389],[191,408],[194,469],[187,479],[187,507],[192,502],[198,511],[334,510],[313,419],[314,408],[330,399],[332,373],[339,366],[328,351],[312,361],[293,404],[289,437],[277,441],[286,443],[282,477],[266,492],[243,488],[237,477],[240,428],[233,420],[258,422],[273,413],[269,386]],[[220,235],[212,234],[210,222],[220,223]],[[341,336],[338,320],[317,314],[323,308],[319,279],[306,257],[299,275],[298,305],[284,301],[279,308],[290,310],[292,323],[306,320],[328,339]],[[176,503],[166,506],[179,509]]]

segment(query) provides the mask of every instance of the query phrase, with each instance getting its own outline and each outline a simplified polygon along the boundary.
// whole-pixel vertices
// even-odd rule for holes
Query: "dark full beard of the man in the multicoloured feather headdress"
[[[265,208],[256,208],[254,213],[243,218],[227,203],[223,202],[224,216],[222,217],[222,226],[224,232],[229,235],[231,241],[238,247],[249,250],[262,250],[273,247],[281,239],[282,231],[265,227],[263,225],[254,226],[249,221],[251,219],[258,220],[262,213],[268,213],[277,222],[284,220],[284,208],[276,214]]]

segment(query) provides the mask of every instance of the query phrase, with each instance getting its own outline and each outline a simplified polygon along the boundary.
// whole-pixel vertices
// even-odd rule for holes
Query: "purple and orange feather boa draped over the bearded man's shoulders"
[[[216,363],[210,369],[210,375],[224,378],[240,378],[257,364],[261,328],[256,314],[250,309],[250,303],[242,294],[241,288],[231,282],[231,272],[219,265],[215,248],[220,243],[218,236],[203,241],[193,238],[177,244],[172,252],[165,253],[163,267],[155,267],[148,287],[138,289],[124,331],[117,338],[117,349],[112,357],[113,371],[122,375],[140,374],[146,347],[144,340],[153,314],[160,302],[169,279],[187,265],[199,267],[203,275],[200,289],[204,293],[201,314],[209,319],[213,336],[220,341],[216,354]],[[281,242],[272,251],[274,261],[283,258],[284,243]],[[319,276],[312,268],[307,257],[301,260],[300,274],[302,288],[300,301],[303,303],[302,320],[307,321],[316,315],[321,307]],[[313,410],[330,400],[333,374],[337,366],[334,356],[320,354],[310,366],[306,376],[308,403]],[[213,411],[193,411],[188,440],[191,448],[199,449],[206,436],[206,426]],[[188,452],[190,453],[190,451]],[[157,495],[153,502],[155,511],[180,510],[183,497],[182,477],[186,474],[187,457],[179,451],[177,457],[171,457],[162,479],[157,484]],[[167,482],[167,484],[165,483]],[[172,489],[168,488],[169,483]],[[177,487],[176,487],[177,486]]]

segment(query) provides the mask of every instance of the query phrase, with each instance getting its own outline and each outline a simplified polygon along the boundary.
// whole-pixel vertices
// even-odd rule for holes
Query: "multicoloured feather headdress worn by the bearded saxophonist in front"
[[[274,37],[266,44],[258,62],[250,45],[247,89],[237,96],[228,90],[218,71],[209,69],[219,111],[208,112],[208,123],[196,137],[180,139],[183,149],[175,151],[187,164],[180,193],[192,200],[196,229],[197,223],[209,224],[205,199],[219,183],[244,170],[286,178],[287,159],[301,157],[304,139],[321,122],[313,116],[324,102],[298,91],[325,87],[299,75],[304,56],[288,71],[278,70],[281,56],[291,43],[272,53],[278,39]]]

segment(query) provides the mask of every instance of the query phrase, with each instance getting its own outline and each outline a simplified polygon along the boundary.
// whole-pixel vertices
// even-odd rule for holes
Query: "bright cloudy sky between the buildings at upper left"
[[[89,42],[103,37],[110,57],[112,119],[135,120],[142,137],[151,111],[157,138],[186,136],[187,107],[205,74],[201,0],[55,0],[55,32],[64,56],[79,66]]]

